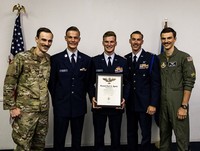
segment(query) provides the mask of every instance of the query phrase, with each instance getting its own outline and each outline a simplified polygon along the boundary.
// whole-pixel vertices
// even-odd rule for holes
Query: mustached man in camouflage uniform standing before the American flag
[[[53,34],[40,28],[36,47],[18,53],[10,63],[4,81],[3,105],[10,110],[15,151],[42,151],[48,130],[50,75],[49,50]]]

